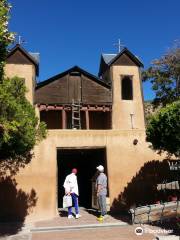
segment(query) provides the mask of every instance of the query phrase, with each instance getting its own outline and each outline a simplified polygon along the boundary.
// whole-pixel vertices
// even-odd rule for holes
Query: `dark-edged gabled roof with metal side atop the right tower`
[[[107,70],[108,67],[113,65],[123,54],[126,54],[137,66],[143,67],[142,62],[132,54],[127,48],[124,48],[118,54],[102,54],[100,60],[99,76]]]

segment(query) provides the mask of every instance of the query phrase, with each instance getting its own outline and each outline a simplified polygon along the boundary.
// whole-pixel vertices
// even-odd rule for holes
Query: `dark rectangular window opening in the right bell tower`
[[[121,79],[121,96],[123,100],[133,100],[132,76],[123,76]]]

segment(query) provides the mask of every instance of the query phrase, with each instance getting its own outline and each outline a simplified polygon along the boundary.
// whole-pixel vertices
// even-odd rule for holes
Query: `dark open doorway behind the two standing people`
[[[79,206],[92,207],[92,178],[98,165],[103,165],[107,174],[105,148],[57,149],[58,208],[62,208],[63,183],[65,177],[71,173],[72,168],[78,169]]]

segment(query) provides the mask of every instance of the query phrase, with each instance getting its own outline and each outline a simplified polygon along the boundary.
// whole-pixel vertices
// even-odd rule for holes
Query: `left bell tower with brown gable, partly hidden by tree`
[[[28,90],[26,97],[31,104],[34,104],[35,81],[38,73],[38,54],[28,53],[20,44],[11,49],[6,58],[5,75],[9,78],[17,76],[24,79]]]

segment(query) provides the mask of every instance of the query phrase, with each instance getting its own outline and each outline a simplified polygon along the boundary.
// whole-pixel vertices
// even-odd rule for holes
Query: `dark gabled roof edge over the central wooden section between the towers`
[[[36,86],[36,89],[39,89],[39,88],[41,88],[41,87],[43,87],[43,86],[45,86],[45,85],[47,85],[47,84],[49,84],[49,83],[51,83],[51,82],[53,82],[55,80],[57,80],[57,79],[65,76],[65,75],[67,75],[68,73],[72,73],[72,72],[82,73],[85,76],[87,76],[88,78],[91,78],[91,80],[97,82],[98,84],[100,84],[100,85],[102,85],[102,86],[104,86],[106,88],[110,88],[110,86],[108,84],[104,83],[103,81],[101,81],[100,78],[98,78],[95,75],[93,75],[93,74],[83,70],[82,68],[80,68],[78,66],[74,66],[74,67],[72,67],[72,68],[70,68],[70,69],[68,69],[68,70],[66,70],[66,71],[64,71],[64,72],[62,72],[60,74],[57,74],[57,75],[55,75],[55,76],[53,76],[53,77],[51,77],[51,78],[49,78],[49,79],[47,79],[45,81],[42,81],[42,82],[38,83],[37,86]]]

